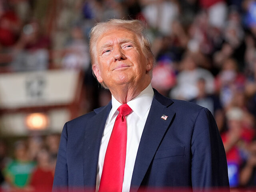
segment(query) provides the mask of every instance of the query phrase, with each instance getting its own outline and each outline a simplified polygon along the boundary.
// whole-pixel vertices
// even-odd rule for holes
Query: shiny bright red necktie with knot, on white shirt
[[[127,104],[118,109],[114,127],[108,142],[99,192],[122,192],[126,158],[127,126],[125,116],[132,112]]]

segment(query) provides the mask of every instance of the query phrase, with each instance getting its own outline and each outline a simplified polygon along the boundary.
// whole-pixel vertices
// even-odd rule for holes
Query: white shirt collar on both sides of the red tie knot
[[[154,90],[149,84],[138,96],[128,101],[127,104],[133,110],[136,115],[140,118],[143,118],[151,106],[152,100],[154,97]],[[117,109],[120,105],[122,105],[114,96],[112,95],[112,109],[110,110],[108,116],[108,123],[112,120],[114,114],[117,112]],[[118,113],[118,112],[117,112]]]

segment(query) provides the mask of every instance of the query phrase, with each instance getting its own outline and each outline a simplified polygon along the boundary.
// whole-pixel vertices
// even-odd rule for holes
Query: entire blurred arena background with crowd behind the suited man
[[[0,186],[49,190],[64,123],[106,105],[88,34],[110,18],[147,24],[152,86],[207,107],[230,186],[256,185],[255,0],[0,0]]]

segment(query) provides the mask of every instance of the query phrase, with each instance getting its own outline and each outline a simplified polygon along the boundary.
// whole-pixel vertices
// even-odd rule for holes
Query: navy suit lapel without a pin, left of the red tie
[[[84,185],[86,188],[96,185],[100,143],[111,107],[110,102],[103,109],[94,110],[96,115],[90,118],[86,124],[83,154]]]

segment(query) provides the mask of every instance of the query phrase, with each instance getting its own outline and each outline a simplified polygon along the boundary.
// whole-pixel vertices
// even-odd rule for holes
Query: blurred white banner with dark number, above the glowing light
[[[78,76],[75,70],[0,74],[0,108],[69,104],[77,94]]]

